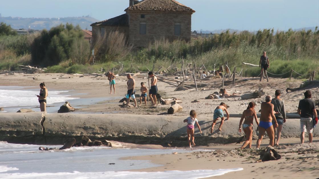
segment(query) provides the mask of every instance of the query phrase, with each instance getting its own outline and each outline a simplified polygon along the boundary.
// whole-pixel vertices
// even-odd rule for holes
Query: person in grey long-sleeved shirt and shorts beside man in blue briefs
[[[283,124],[286,122],[286,111],[285,111],[285,105],[284,105],[284,101],[282,99],[280,99],[281,96],[281,91],[280,90],[276,90],[275,91],[275,98],[271,100],[271,104],[274,105],[274,113],[275,113],[275,117],[278,123],[278,130],[277,130],[277,141],[276,146],[279,145],[279,139],[281,136],[281,131],[282,131],[282,127]],[[272,123],[274,124],[274,121],[272,121]],[[276,128],[274,127],[274,131],[276,133]]]

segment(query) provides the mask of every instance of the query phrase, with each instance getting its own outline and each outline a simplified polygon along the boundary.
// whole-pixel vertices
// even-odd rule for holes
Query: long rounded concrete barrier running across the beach
[[[2,113],[0,115],[0,141],[22,144],[57,145],[67,139],[81,141],[82,136],[92,141],[123,141],[135,144],[160,144],[163,146],[186,146],[187,116],[134,115],[134,114],[45,114],[45,113]],[[203,135],[195,127],[197,145],[210,143],[234,143],[243,136],[238,133],[240,118],[230,118],[223,130],[210,134],[210,117],[197,116]],[[217,121],[217,126],[219,126]],[[216,129],[216,128],[215,128]],[[256,124],[254,123],[256,137]],[[318,127],[314,136],[318,136]],[[300,120],[289,119],[284,124],[282,137],[298,137]],[[92,142],[91,141],[91,142]],[[263,143],[267,143],[267,138]]]

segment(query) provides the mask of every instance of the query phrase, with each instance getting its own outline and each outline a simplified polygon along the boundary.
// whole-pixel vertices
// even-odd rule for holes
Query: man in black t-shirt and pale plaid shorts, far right
[[[305,99],[299,101],[297,113],[300,115],[300,141],[304,142],[305,132],[307,129],[309,142],[312,142],[312,131],[314,129],[313,121],[318,123],[318,116],[315,107],[315,102],[311,99],[311,92],[307,90],[305,93]],[[315,117],[314,119],[312,117]]]

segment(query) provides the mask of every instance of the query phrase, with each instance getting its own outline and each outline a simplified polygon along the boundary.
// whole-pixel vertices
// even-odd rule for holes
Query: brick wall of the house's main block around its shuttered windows
[[[145,18],[141,18],[145,14]],[[184,12],[129,12],[129,42],[136,47],[145,47],[154,39],[167,38],[190,41],[191,13]],[[140,34],[140,23],[146,23],[146,34]],[[174,35],[175,24],[181,24],[181,35]]]

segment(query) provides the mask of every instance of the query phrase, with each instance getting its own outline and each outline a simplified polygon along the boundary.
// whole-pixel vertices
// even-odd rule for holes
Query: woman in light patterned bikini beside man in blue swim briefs
[[[250,102],[247,109],[244,110],[244,112],[241,115],[241,119],[239,121],[239,128],[238,131],[241,132],[241,123],[245,119],[242,129],[244,130],[244,133],[246,135],[246,141],[242,144],[240,149],[244,149],[249,145],[249,148],[251,148],[251,141],[253,140],[253,122],[254,118],[256,120],[257,126],[259,126],[259,122],[257,119],[257,114],[255,109],[256,104],[254,102]]]

